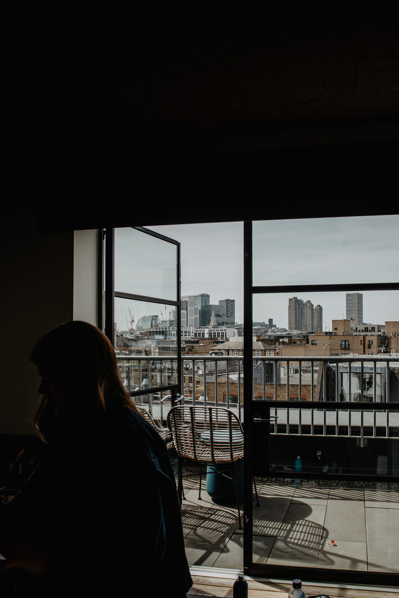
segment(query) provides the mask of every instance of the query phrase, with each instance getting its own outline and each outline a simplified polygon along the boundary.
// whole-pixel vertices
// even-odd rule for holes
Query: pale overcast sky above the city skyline
[[[243,223],[149,228],[181,243],[181,294],[205,292],[215,304],[221,299],[235,299],[236,321],[242,323]],[[254,285],[399,281],[398,215],[255,221],[253,240]],[[142,267],[145,259],[140,263]],[[293,292],[255,295],[254,321],[273,318],[276,325],[287,328],[288,298],[293,295],[320,304],[327,328],[331,328],[332,319],[346,316],[345,292]],[[365,322],[399,320],[399,291],[364,292],[363,313]],[[123,318],[118,322],[120,329],[126,328],[124,312]]]

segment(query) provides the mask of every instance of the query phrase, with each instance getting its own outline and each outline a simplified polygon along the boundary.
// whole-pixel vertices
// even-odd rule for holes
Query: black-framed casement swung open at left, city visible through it
[[[180,243],[142,227],[106,228],[104,237],[104,329],[121,380],[130,396],[151,402],[170,393],[173,401],[181,389]]]

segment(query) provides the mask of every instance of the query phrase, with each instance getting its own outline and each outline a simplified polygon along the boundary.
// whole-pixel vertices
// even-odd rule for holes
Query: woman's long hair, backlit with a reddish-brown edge
[[[87,322],[66,322],[45,334],[33,348],[31,361],[62,393],[61,414],[44,394],[32,415],[36,434],[46,444],[62,425],[70,432],[80,424],[93,426],[123,406],[138,413],[121,383],[114,347]]]

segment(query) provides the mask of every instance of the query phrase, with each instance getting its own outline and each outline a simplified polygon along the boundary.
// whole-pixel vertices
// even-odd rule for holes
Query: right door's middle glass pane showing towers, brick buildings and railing
[[[364,309],[359,321],[353,321],[352,310],[346,312],[347,296],[342,291],[253,296],[253,322],[273,319],[273,328],[257,335],[257,344],[264,347],[266,370],[263,363],[255,367],[254,362],[255,396],[279,400],[301,396],[306,401],[313,396],[313,400],[322,401],[327,395],[331,401],[351,402],[363,396],[363,401],[399,402],[394,390],[399,376],[399,291],[358,292],[358,311],[362,315]],[[260,354],[260,350],[254,350],[255,357]],[[348,362],[334,359],[345,356],[352,358],[351,380]],[[356,358],[364,356],[378,360],[375,381],[373,361],[364,361],[361,380],[361,364]],[[383,361],[386,357],[389,383]]]

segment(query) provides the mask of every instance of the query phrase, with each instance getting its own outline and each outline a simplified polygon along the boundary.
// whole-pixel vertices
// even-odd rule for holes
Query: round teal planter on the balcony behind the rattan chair
[[[243,459],[237,461],[237,480],[238,495],[241,501],[244,495]],[[208,465],[206,468],[206,492],[215,501],[237,501],[234,463],[227,463],[227,465]]]

